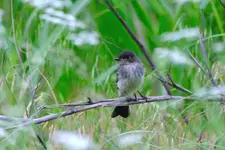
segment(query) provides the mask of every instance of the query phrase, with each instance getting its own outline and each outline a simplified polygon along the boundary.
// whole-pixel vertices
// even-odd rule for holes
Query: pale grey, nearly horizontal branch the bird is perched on
[[[74,105],[82,105],[82,106],[78,106],[75,107],[73,109],[64,111],[62,113],[58,113],[58,114],[51,114],[51,115],[46,115],[44,117],[40,117],[37,119],[24,119],[24,118],[11,118],[11,117],[6,117],[6,116],[1,116],[0,115],[0,120],[3,121],[14,121],[14,120],[21,120],[24,123],[14,126],[12,128],[17,128],[17,127],[23,127],[23,126],[28,126],[30,124],[41,124],[50,120],[54,120],[60,117],[65,117],[65,116],[69,116],[72,115],[74,113],[78,113],[78,112],[83,112],[89,109],[94,109],[94,108],[98,108],[98,107],[115,107],[115,106],[127,106],[127,105],[135,105],[135,104],[144,104],[144,103],[151,103],[151,102],[161,102],[161,101],[168,101],[168,100],[189,100],[186,97],[182,97],[182,96],[149,96],[146,98],[142,98],[142,97],[138,97],[137,101],[132,98],[129,99],[127,97],[119,97],[119,98],[114,98],[114,99],[105,99],[105,100],[101,100],[101,101],[96,101],[96,102],[92,102],[86,103],[86,105],[83,106],[84,103],[78,103],[78,104],[74,104]],[[12,128],[8,128],[8,129],[12,129]]]

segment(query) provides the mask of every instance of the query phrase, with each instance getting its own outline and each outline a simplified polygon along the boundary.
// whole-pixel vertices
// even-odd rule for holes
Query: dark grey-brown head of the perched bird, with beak
[[[120,56],[118,58],[115,58],[116,61],[119,61],[120,63],[134,63],[134,62],[140,62],[139,58],[133,53],[132,51],[123,51],[120,53]]]

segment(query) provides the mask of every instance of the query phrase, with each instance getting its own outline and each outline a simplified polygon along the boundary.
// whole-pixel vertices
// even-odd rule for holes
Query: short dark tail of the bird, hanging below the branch
[[[115,118],[117,116],[121,116],[123,118],[127,118],[130,116],[130,108],[129,106],[117,106],[112,112],[111,117]]]

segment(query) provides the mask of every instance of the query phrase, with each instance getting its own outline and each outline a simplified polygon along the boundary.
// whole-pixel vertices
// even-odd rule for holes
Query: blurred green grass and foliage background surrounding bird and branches
[[[167,95],[139,47],[104,0],[100,2],[103,5],[95,0],[0,1],[1,115],[33,116],[41,105],[117,97],[113,58],[120,48],[134,51],[144,62],[140,91],[146,96]],[[193,93],[213,86],[187,52],[206,70],[196,35],[199,28],[213,76],[224,86],[225,8],[219,0],[110,2],[147,48],[157,71],[165,78],[170,71],[177,84]],[[190,30],[179,32],[185,29]],[[170,89],[173,95],[190,96]],[[148,103],[131,106],[128,119],[111,119],[113,108],[98,108],[9,130],[5,129],[13,123],[1,121],[0,149],[43,149],[35,131],[48,149],[64,149],[51,141],[57,130],[88,135],[99,149],[225,149],[222,107],[206,100]],[[60,111],[44,110],[39,117]]]

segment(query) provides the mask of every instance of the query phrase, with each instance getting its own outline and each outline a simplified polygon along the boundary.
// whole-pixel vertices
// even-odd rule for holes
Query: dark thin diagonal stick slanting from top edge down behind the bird
[[[159,72],[156,70],[156,65],[153,63],[152,58],[148,54],[147,49],[144,47],[144,45],[137,39],[137,37],[134,35],[134,33],[131,31],[131,29],[128,27],[128,25],[124,22],[122,17],[117,13],[117,11],[113,8],[112,4],[109,2],[109,0],[105,0],[105,2],[108,4],[109,9],[115,14],[115,16],[119,19],[119,21],[122,23],[123,27],[126,29],[126,31],[129,33],[131,38],[136,42],[136,44],[141,49],[142,53],[148,60],[149,64],[151,65],[152,70],[156,71],[157,76],[162,78],[162,76],[159,74]],[[165,87],[167,93],[169,95],[172,95],[171,90],[169,89],[168,85],[165,82],[162,82],[163,86]]]

